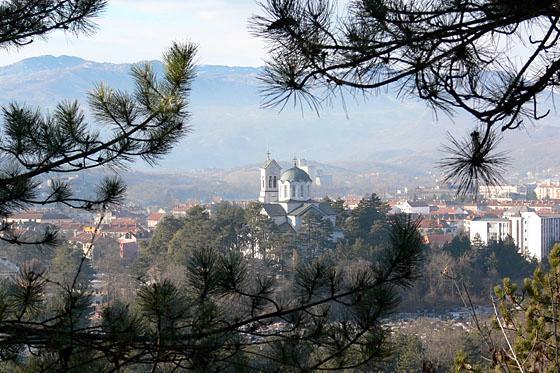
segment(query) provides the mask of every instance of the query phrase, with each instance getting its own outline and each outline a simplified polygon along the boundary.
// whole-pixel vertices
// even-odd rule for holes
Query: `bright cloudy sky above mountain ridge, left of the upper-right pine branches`
[[[95,34],[56,32],[47,41],[0,51],[0,66],[45,54],[98,62],[159,59],[172,40],[185,39],[199,44],[201,64],[260,66],[264,43],[247,29],[258,11],[254,0],[109,0]]]

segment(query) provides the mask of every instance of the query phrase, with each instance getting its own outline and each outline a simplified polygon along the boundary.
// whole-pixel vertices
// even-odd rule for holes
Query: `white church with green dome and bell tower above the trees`
[[[259,201],[263,204],[262,214],[271,218],[280,229],[298,231],[306,214],[316,214],[336,223],[336,212],[327,202],[311,199],[311,177],[297,166],[282,171],[282,167],[267,155],[261,166],[261,192]]]

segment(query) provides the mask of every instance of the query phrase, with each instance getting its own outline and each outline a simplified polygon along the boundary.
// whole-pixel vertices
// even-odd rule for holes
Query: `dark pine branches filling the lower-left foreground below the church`
[[[190,219],[208,222],[198,213]],[[192,224],[198,225],[185,219],[170,245]],[[144,282],[130,304],[111,302],[96,322],[90,321],[91,292],[83,281],[78,279],[80,286],[74,280],[76,286],[53,298],[46,291],[51,280],[44,271],[24,267],[15,281],[0,287],[10,294],[0,299],[0,354],[9,362],[4,366],[375,369],[388,353],[390,336],[380,319],[395,310],[397,290],[416,279],[422,247],[412,219],[392,219],[384,229],[389,239],[376,261],[319,256],[324,249],[315,240],[316,258],[302,260],[287,273],[257,266],[235,248],[216,247],[219,240],[214,247],[193,245],[182,253],[184,283]],[[77,278],[64,277],[76,264],[74,254],[61,249],[54,259],[62,281]],[[52,306],[42,312],[51,300]],[[32,358],[21,353],[24,347],[34,350]]]

